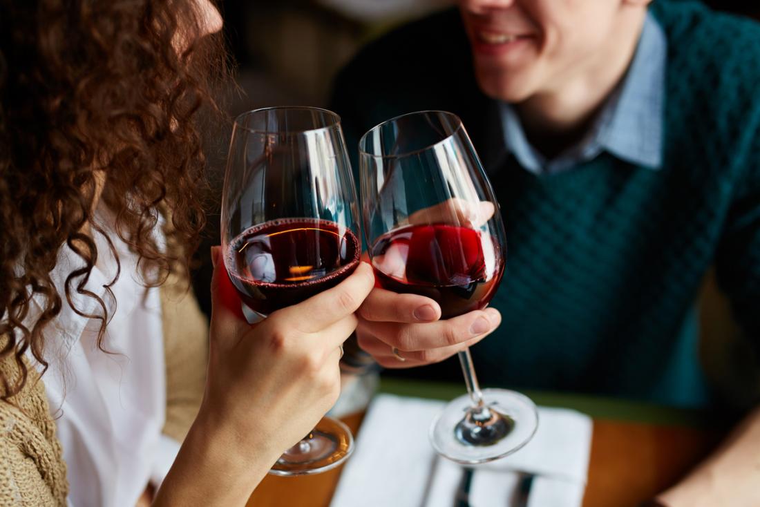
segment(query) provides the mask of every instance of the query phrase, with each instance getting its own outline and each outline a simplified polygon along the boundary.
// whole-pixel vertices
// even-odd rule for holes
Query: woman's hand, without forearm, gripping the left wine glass
[[[257,433],[255,445],[265,436],[279,456],[337,401],[340,345],[356,329],[353,312],[372,290],[372,268],[359,263],[337,287],[249,325],[220,249],[213,254],[211,350],[201,413],[241,435]]]

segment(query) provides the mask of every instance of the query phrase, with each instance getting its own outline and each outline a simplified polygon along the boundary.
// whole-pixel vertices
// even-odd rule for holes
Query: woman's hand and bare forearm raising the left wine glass
[[[374,285],[364,262],[336,287],[249,325],[218,247],[204,401],[154,505],[242,505],[337,401],[340,345]]]

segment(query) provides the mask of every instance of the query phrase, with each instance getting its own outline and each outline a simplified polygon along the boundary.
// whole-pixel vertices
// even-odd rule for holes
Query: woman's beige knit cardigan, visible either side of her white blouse
[[[203,396],[207,322],[187,283],[170,277],[161,289],[166,348],[166,424],[182,442]],[[0,337],[0,342],[5,342]],[[2,343],[0,343],[2,345]],[[0,361],[6,378],[17,375],[12,357]],[[34,368],[13,404],[0,401],[0,505],[66,505],[68,482],[43,379]],[[15,406],[14,406],[15,405]]]

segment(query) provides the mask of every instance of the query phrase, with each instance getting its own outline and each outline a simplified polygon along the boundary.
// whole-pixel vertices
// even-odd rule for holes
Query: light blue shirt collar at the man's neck
[[[554,174],[594,159],[603,151],[649,169],[662,163],[667,39],[650,13],[625,78],[603,106],[581,142],[546,160],[527,140],[520,118],[508,103],[499,103],[506,148],[524,169]]]

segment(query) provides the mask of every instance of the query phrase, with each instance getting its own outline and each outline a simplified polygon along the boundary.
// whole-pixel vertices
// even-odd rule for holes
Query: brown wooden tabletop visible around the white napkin
[[[381,391],[427,398],[453,398],[457,387],[385,381]],[[461,386],[458,387],[461,390]],[[704,414],[593,397],[527,393],[537,404],[569,407],[594,418],[584,507],[634,507],[676,483],[713,450],[726,433]],[[354,434],[362,414],[344,418]],[[724,429],[720,429],[723,427]],[[328,507],[339,467],[303,477],[268,476],[249,507]],[[359,506],[357,506],[359,507]]]

